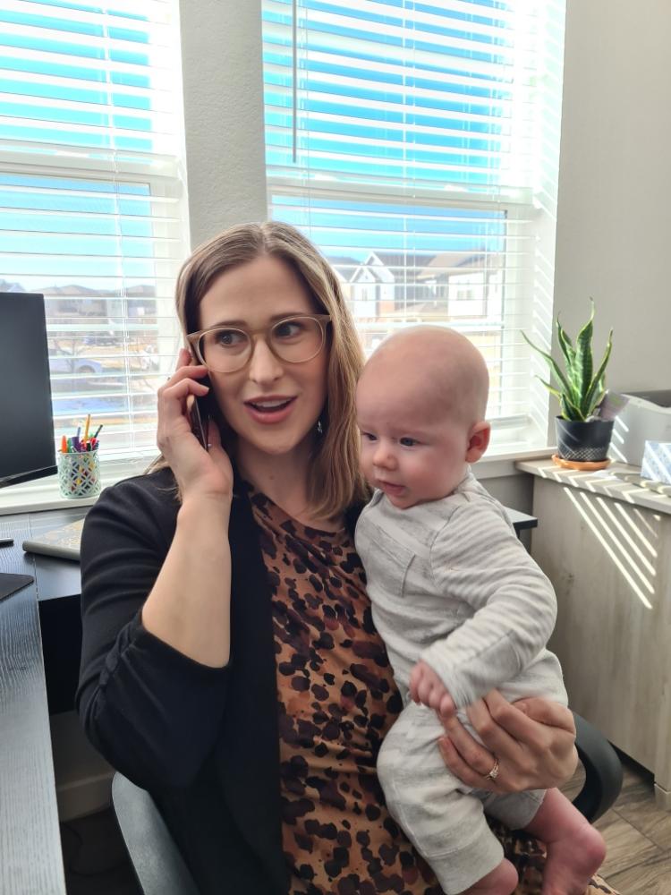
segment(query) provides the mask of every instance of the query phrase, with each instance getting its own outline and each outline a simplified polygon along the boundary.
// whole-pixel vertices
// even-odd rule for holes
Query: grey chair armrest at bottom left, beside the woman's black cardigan
[[[112,805],[144,895],[199,895],[154,799],[118,771]]]

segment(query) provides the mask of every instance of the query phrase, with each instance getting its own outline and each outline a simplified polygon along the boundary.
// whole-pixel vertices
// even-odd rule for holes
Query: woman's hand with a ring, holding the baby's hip
[[[492,792],[548,789],[568,780],[578,761],[572,712],[530,697],[508,703],[492,690],[466,709],[478,743],[456,716],[438,741],[447,767],[464,783]],[[498,761],[496,780],[488,773]]]

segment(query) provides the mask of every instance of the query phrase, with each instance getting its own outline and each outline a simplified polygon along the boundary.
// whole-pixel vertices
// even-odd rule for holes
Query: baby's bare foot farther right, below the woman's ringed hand
[[[584,895],[606,857],[606,843],[587,821],[547,843],[542,895]]]

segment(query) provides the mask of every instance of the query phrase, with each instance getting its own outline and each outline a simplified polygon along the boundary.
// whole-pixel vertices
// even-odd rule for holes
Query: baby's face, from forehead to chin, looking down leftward
[[[408,509],[446,497],[462,481],[469,431],[430,395],[394,385],[364,376],[357,388],[361,470],[395,507]]]

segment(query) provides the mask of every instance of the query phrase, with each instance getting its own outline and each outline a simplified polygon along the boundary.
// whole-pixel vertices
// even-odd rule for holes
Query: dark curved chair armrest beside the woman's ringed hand
[[[589,721],[573,712],[575,746],[585,769],[585,782],[573,805],[590,823],[613,805],[622,788],[622,764],[613,746]]]

